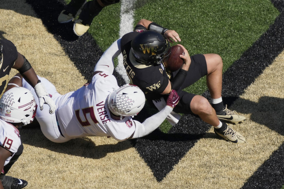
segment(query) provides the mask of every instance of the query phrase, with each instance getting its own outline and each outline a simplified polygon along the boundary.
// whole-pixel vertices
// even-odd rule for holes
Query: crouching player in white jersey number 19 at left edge
[[[6,91],[0,99],[0,189],[21,189],[28,185],[27,181],[6,173],[23,151],[17,128],[31,123],[36,109],[33,94],[23,87]]]

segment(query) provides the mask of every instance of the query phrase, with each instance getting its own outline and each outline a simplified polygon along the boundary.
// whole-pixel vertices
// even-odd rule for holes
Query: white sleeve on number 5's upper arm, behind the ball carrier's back
[[[103,55],[96,63],[95,71],[103,71],[109,74],[112,74],[114,70],[114,58],[117,57],[121,53],[120,48],[120,40],[116,40],[106,51],[104,51]]]

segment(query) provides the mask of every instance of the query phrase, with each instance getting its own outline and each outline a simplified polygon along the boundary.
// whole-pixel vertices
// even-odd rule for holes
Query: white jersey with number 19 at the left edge
[[[20,145],[21,139],[18,129],[0,118],[0,146],[12,153],[12,155],[6,159],[4,165],[10,162],[10,159],[18,151]],[[0,172],[2,168],[3,167],[0,167]]]

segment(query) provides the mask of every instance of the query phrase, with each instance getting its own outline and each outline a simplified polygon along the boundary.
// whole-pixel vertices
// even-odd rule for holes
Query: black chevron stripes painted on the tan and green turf
[[[33,6],[36,14],[42,19],[43,24],[54,34],[54,37],[62,45],[65,52],[69,55],[82,75],[85,76],[86,79],[90,79],[93,67],[101,56],[102,51],[96,45],[91,35],[85,34],[77,38],[72,33],[71,24],[59,25],[57,23],[57,16],[63,8],[63,0],[26,1]],[[281,23],[283,20],[283,1],[272,0],[272,3],[280,11],[280,16],[277,17],[270,29],[263,34],[251,48],[244,52],[241,58],[223,75],[223,100],[229,106],[283,50],[284,27],[283,23]],[[114,73],[114,75],[117,77],[120,85],[124,84],[121,76],[117,73]],[[205,92],[203,95],[209,98],[209,92]],[[143,109],[137,119],[143,120],[148,115],[149,113]],[[161,133],[157,129],[149,136],[132,140],[132,142],[140,156],[151,168],[156,180],[162,181],[167,173],[173,169],[173,166],[194,146],[198,139],[204,136],[204,133],[206,133],[209,128],[210,126],[202,122],[199,118],[186,115],[181,118],[180,122],[175,125],[168,134]],[[207,136],[215,137],[214,133]],[[283,150],[281,151],[283,146],[284,144],[282,144],[278,150],[279,152],[273,153],[266,162],[272,161],[273,164],[274,159],[283,159],[284,153]],[[255,186],[257,183],[255,179],[262,177],[268,177],[268,179],[272,178],[273,175],[264,174],[264,171],[262,171],[262,169],[266,169],[267,164],[263,164],[254,173],[254,176],[248,180],[248,184],[245,184],[244,188]],[[283,163],[279,166],[283,167]],[[272,167],[271,172],[277,172],[275,169],[279,169],[279,167]],[[284,177],[283,170],[280,170],[279,176]],[[273,182],[277,186],[280,186],[281,183],[283,184],[281,180],[277,182],[277,180],[273,179]],[[264,188],[271,187],[267,185]]]

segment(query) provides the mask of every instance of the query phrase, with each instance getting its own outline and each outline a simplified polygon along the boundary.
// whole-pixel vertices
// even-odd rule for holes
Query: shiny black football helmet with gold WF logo
[[[131,50],[135,60],[144,64],[161,64],[171,54],[169,41],[155,31],[147,30],[131,41]]]

